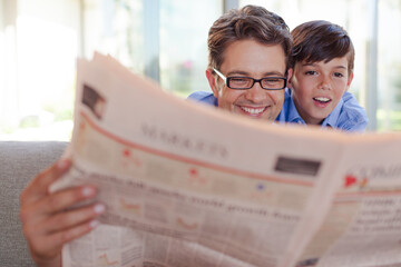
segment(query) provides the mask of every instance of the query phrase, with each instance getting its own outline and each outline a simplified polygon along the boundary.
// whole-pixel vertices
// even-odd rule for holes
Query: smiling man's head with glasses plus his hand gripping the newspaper
[[[229,11],[212,27],[206,77],[218,107],[234,113],[274,120],[282,106],[292,38],[283,19],[264,8]],[[40,172],[21,194],[20,217],[33,260],[61,266],[61,248],[97,226],[101,204],[69,209],[92,199],[96,188],[80,186],[49,192],[71,162],[60,160]]]

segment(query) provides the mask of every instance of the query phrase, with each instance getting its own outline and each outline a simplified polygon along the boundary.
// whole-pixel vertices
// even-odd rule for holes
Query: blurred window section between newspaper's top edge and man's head
[[[216,0],[87,0],[86,56],[110,53],[183,97],[207,90],[207,32],[222,9]]]

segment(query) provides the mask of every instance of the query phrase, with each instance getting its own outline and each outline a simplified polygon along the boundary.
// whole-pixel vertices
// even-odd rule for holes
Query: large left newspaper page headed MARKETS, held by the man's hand
[[[107,211],[65,246],[63,267],[291,266],[294,236],[312,239],[342,181],[349,136],[322,132],[179,99],[109,57],[79,60],[74,165],[55,188],[94,184]]]

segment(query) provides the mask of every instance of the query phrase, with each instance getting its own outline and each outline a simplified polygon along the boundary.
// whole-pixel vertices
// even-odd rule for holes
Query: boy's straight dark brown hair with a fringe
[[[294,39],[291,67],[302,61],[329,62],[346,55],[349,72],[353,70],[355,50],[342,27],[324,20],[313,20],[297,26],[291,33]]]

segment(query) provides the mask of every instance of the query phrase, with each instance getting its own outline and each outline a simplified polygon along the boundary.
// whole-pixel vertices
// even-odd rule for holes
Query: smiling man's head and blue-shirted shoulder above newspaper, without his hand
[[[228,11],[208,33],[206,77],[213,93],[195,92],[189,99],[275,120],[292,75],[292,44],[288,27],[277,14],[255,6]]]

